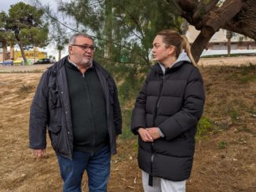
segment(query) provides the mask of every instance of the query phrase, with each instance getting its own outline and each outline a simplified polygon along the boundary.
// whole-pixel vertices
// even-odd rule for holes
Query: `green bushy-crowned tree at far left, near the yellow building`
[[[24,62],[27,63],[24,49],[45,47],[48,44],[48,25],[42,20],[43,12],[24,2],[11,5],[9,14],[2,12],[3,33],[11,34],[20,51]]]

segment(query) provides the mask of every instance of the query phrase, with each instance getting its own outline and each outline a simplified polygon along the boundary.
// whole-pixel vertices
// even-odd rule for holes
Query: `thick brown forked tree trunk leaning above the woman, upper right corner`
[[[244,34],[256,41],[256,2],[255,0],[229,0],[223,5],[218,1],[165,0],[175,5],[189,24],[201,31],[192,45],[192,55],[196,62],[210,38],[220,28]],[[208,2],[208,3],[207,3]],[[205,35],[205,31],[210,31]],[[207,32],[207,33],[208,33]],[[207,42],[208,41],[208,42]]]

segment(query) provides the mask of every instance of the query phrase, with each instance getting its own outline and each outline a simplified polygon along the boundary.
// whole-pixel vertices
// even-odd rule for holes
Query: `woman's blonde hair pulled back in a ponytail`
[[[170,45],[173,45],[176,50],[176,58],[181,54],[182,49],[185,49],[185,53],[188,54],[189,59],[193,65],[196,65],[196,62],[192,56],[188,38],[185,35],[179,34],[174,30],[164,30],[160,31],[156,35],[163,36],[163,42],[166,44],[166,48],[169,48]]]

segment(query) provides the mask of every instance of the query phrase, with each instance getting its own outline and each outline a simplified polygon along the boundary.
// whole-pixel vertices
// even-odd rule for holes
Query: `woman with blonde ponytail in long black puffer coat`
[[[153,60],[137,97],[131,129],[138,134],[138,164],[144,191],[185,191],[192,169],[196,125],[203,114],[203,79],[188,39],[159,32]]]

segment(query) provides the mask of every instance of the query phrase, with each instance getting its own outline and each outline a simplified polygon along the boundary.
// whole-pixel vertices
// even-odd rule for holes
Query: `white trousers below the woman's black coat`
[[[185,192],[186,180],[170,181],[160,177],[153,177],[153,186],[148,185],[148,172],[142,170],[142,185],[144,192]]]

